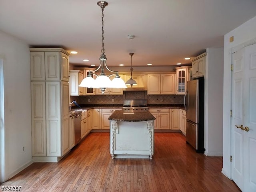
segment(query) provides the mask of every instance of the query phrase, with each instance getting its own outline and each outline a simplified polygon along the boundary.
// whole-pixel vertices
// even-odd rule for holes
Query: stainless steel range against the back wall
[[[122,109],[126,112],[146,112],[147,100],[124,100]]]

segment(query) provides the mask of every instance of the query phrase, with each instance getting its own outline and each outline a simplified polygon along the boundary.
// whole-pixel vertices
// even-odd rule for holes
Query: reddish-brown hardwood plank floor
[[[240,192],[222,158],[198,154],[180,133],[155,133],[149,159],[112,159],[109,133],[89,134],[58,163],[34,163],[1,186],[23,192]]]

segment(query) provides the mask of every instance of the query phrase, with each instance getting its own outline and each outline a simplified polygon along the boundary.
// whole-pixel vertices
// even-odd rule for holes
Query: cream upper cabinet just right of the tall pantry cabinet
[[[70,70],[70,96],[84,95],[84,87],[78,87],[84,78],[84,72],[80,70]]]

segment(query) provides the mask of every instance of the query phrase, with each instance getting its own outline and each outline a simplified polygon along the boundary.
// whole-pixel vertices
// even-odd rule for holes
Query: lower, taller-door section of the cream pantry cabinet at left
[[[70,149],[69,84],[31,82],[31,94],[34,162],[57,162]]]

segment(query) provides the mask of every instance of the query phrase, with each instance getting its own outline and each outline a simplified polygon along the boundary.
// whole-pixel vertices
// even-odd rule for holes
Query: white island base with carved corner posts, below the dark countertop
[[[110,120],[112,158],[150,158],[154,155],[154,120]]]

